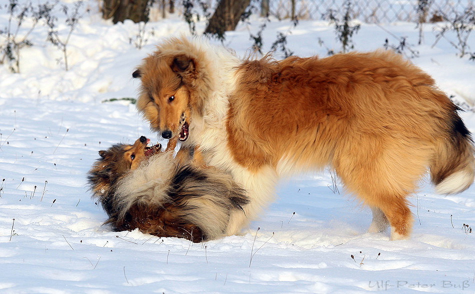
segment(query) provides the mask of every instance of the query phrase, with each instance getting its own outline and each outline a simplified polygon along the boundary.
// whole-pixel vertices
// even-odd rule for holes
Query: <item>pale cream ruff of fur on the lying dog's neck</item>
[[[138,201],[158,206],[167,202],[168,182],[175,169],[172,152],[168,152],[153,155],[130,171],[118,182],[115,192],[115,198],[120,203],[120,217]]]

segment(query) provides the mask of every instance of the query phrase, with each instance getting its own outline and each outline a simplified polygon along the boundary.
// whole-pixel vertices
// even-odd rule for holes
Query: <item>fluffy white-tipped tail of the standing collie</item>
[[[455,194],[467,189],[475,176],[475,157],[470,132],[456,113],[448,136],[436,148],[430,166],[432,183],[439,194]]]

